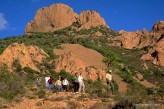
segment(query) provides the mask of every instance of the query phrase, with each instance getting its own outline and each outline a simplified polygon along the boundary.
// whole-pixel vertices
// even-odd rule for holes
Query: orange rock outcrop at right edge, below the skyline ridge
[[[164,34],[161,35],[157,43],[141,57],[142,60],[150,60],[153,64],[164,66]]]

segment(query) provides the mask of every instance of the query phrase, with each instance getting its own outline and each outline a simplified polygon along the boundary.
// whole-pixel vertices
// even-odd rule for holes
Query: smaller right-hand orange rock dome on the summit
[[[84,11],[80,13],[78,23],[84,29],[100,25],[107,27],[104,19],[96,11]]]

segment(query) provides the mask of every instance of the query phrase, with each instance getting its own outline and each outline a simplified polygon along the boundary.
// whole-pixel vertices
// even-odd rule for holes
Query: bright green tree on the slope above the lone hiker
[[[112,62],[116,61],[117,56],[113,53],[113,51],[108,51],[107,55],[103,58],[103,62],[107,65],[107,67],[109,68],[109,66],[112,64]]]

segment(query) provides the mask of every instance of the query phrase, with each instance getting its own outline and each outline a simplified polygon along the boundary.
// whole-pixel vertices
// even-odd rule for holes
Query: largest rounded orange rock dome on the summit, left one
[[[25,32],[49,32],[72,25],[77,14],[67,5],[54,4],[37,11],[33,21],[26,26]]]

